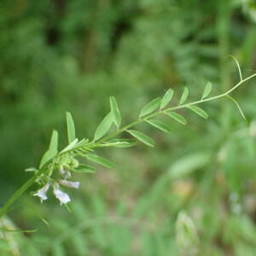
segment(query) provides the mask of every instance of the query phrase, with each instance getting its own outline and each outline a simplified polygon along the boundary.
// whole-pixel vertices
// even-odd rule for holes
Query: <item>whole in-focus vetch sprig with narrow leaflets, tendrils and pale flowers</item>
[[[94,166],[90,166],[90,162],[94,162],[108,168],[115,167],[111,160],[97,155],[95,153],[96,148],[129,148],[135,146],[137,141],[144,143],[149,147],[154,147],[155,143],[153,138],[148,137],[148,135],[144,134],[142,131],[137,131],[133,128],[134,126],[143,122],[154,126],[160,131],[170,133],[171,128],[168,124],[160,121],[159,119],[155,119],[159,115],[165,115],[166,117],[171,118],[182,125],[186,125],[187,120],[180,113],[177,113],[178,109],[188,108],[202,118],[207,119],[207,112],[198,105],[204,102],[210,102],[219,98],[228,97],[232,102],[235,102],[237,108],[241,112],[242,117],[245,119],[241,108],[236,100],[230,96],[230,94],[241,86],[241,84],[253,79],[253,77],[256,76],[256,73],[253,73],[251,76],[243,79],[241,69],[237,61],[236,65],[238,67],[240,81],[230,90],[227,90],[218,96],[210,97],[209,95],[212,91],[212,84],[209,82],[207,83],[200,100],[195,102],[187,102],[189,98],[189,89],[185,87],[177,106],[170,107],[169,104],[172,102],[174,91],[169,89],[166,91],[166,94],[163,97],[157,97],[153,101],[148,102],[148,104],[139,113],[139,117],[136,121],[122,127],[118,103],[116,102],[115,98],[111,96],[109,98],[110,112],[104,117],[104,119],[102,119],[102,122],[96,128],[94,138],[91,141],[87,138],[82,138],[79,140],[79,138],[76,137],[72,114],[67,112],[67,147],[63,148],[62,150],[58,149],[59,135],[58,131],[54,130],[50,138],[49,148],[44,153],[38,168],[26,169],[26,172],[33,172],[33,176],[29,178],[26,183],[21,185],[20,189],[17,189],[15,194],[12,195],[9,201],[7,201],[0,209],[0,218],[2,218],[3,215],[9,211],[9,207],[11,207],[13,203],[20,197],[20,195],[22,195],[26,189],[30,188],[33,183],[38,183],[38,191],[34,192],[33,195],[38,196],[41,202],[47,200],[49,191],[52,190],[55,198],[60,201],[61,205],[67,205],[67,203],[71,201],[71,198],[66,192],[64,192],[64,188],[67,187],[79,189],[79,182],[72,180],[73,172],[95,172],[96,170]],[[112,125],[116,126],[116,131],[108,134],[108,131]],[[129,133],[133,138],[117,138],[124,132]],[[79,162],[79,158],[81,157],[88,160],[89,164],[81,164]]]

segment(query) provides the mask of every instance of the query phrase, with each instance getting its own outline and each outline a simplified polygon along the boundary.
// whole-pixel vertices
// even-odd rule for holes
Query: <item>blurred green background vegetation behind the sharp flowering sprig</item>
[[[108,96],[129,123],[170,87],[176,101],[184,85],[190,100],[208,80],[228,90],[239,79],[228,55],[255,72],[255,21],[254,0],[2,0],[0,206],[53,128],[67,144],[66,110],[92,138]],[[38,231],[0,232],[0,254],[255,255],[255,84],[234,93],[248,123],[232,102],[209,102],[209,120],[183,111],[189,124],[171,135],[141,125],[156,148],[103,150],[118,168],[73,177],[72,212],[27,193],[1,225]]]

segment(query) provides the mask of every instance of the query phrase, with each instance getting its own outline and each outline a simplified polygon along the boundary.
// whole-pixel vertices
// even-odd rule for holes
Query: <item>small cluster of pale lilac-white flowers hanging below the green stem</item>
[[[54,193],[55,197],[61,202],[61,205],[67,204],[69,201],[71,201],[71,199],[70,199],[69,195],[67,195],[67,193],[63,192],[60,189],[60,185],[63,185],[63,186],[69,187],[69,188],[79,189],[79,185],[80,185],[79,182],[72,182],[72,181],[67,180],[67,178],[71,177],[71,173],[69,171],[61,168],[60,172],[61,172],[61,176],[63,177],[63,179],[60,179],[57,182],[49,181],[48,183],[46,183],[44,185],[43,188],[38,189],[38,191],[33,194],[35,196],[38,196],[40,198],[41,202],[47,200],[48,197],[46,194],[50,187],[53,187],[53,193]]]

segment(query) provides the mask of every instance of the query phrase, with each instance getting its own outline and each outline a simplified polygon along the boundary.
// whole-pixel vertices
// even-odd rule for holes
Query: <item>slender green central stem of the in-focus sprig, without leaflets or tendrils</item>
[[[103,137],[101,140],[97,141],[96,143],[86,144],[86,148],[90,149],[90,148],[99,147],[100,143],[104,143],[104,142],[108,141],[108,139],[110,139],[112,137],[116,137],[120,133],[130,129],[132,126],[143,123],[144,121],[146,121],[150,118],[153,118],[154,116],[166,113],[168,111],[177,110],[177,109],[180,109],[180,108],[188,108],[189,106],[192,106],[192,105],[200,104],[200,103],[203,103],[203,102],[210,102],[210,101],[213,101],[213,100],[217,100],[218,98],[228,96],[233,90],[236,90],[236,88],[238,88],[241,84],[247,82],[248,80],[253,79],[253,77],[256,77],[256,73],[253,73],[253,75],[247,77],[246,79],[241,80],[239,83],[237,83],[230,90],[227,90],[226,92],[224,92],[223,94],[220,94],[218,96],[212,96],[212,97],[200,100],[200,101],[190,102],[190,103],[186,103],[186,104],[171,107],[171,108],[165,108],[165,109],[161,109],[157,112],[151,113],[151,114],[147,115],[146,117],[144,117],[142,119],[138,119],[137,121],[135,121],[135,122],[133,122],[129,125],[125,125],[124,127],[120,128],[118,131],[115,131],[112,134],[110,134],[108,137]],[[9,200],[4,204],[4,206],[0,209],[0,218],[2,218],[4,216],[4,214],[6,214],[8,212],[9,207],[11,207],[14,204],[14,202],[20,198],[20,196],[26,191],[26,189],[28,189],[29,187],[32,186],[32,184],[36,181],[36,179],[39,177],[39,175],[41,175],[42,173],[44,173],[45,170],[47,170],[46,166],[48,166],[50,162],[55,161],[56,158],[59,158],[63,154],[71,154],[71,153],[73,153],[74,150],[79,150],[80,148],[84,148],[84,145],[73,148],[73,149],[68,150],[68,151],[66,151],[64,153],[61,153],[61,154],[57,154],[54,159],[49,160],[47,163],[45,163],[44,166],[42,166],[42,168],[40,168],[40,170],[37,173],[35,173],[34,176],[32,176],[30,179],[28,179],[26,181],[26,183],[22,184],[20,186],[20,188],[15,191],[15,194],[12,195],[9,198]]]

